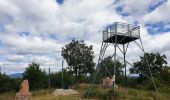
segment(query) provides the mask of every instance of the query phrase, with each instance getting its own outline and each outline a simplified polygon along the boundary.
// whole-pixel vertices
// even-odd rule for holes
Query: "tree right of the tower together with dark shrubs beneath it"
[[[137,78],[137,83],[134,80],[131,83],[138,84],[138,88],[154,90],[153,83],[148,78],[151,76],[148,67],[150,67],[157,88],[162,90],[167,87],[169,89],[170,67],[167,66],[166,56],[159,53],[145,53],[143,57],[140,57],[140,61],[134,63],[130,73],[139,74],[139,78]]]

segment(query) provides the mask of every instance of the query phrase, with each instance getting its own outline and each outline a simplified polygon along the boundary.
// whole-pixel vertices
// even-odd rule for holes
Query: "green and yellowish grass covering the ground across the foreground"
[[[88,87],[88,84],[81,84],[79,87],[76,88],[76,90],[79,91],[80,95],[69,96],[54,96],[52,95],[52,92],[55,89],[31,91],[32,100],[80,100],[80,98],[83,98],[85,90],[87,90]],[[99,85],[95,85],[94,89],[95,96],[91,96],[91,99],[109,100],[105,98],[108,96],[109,89],[104,89]],[[14,100],[15,94],[15,92],[0,94],[0,100]],[[114,95],[114,100],[170,100],[170,95],[166,93],[156,93],[154,91],[146,91],[133,88],[126,89],[123,87],[119,87],[116,90],[116,94]]]

